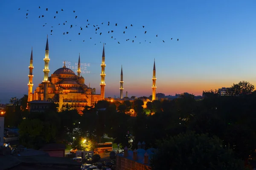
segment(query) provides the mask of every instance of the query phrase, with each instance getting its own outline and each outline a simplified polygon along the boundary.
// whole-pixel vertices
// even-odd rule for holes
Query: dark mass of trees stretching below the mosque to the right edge
[[[250,91],[230,96],[204,91],[203,100],[187,94],[148,102],[147,108],[141,99],[103,100],[95,108],[86,106],[82,115],[72,108],[31,113],[18,126],[20,142],[33,148],[73,142],[73,147],[82,149],[82,138],[101,142],[107,134],[122,148],[133,150],[143,141],[146,148],[158,148],[151,160],[155,170],[156,165],[173,170],[241,170],[241,162],[253,158],[256,150],[256,92]],[[130,109],[136,117],[128,114]]]

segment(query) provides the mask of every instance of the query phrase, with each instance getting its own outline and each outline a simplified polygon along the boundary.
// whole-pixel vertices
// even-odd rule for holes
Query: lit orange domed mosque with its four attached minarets
[[[80,68],[80,54],[78,59],[78,70],[77,75],[69,68],[66,68],[65,64],[62,68],[57,69],[49,77],[49,44],[48,36],[45,49],[44,58],[44,79],[36,87],[34,93],[32,93],[33,88],[33,53],[31,51],[30,64],[29,64],[29,83],[28,83],[28,102],[31,102],[36,108],[34,111],[40,109],[44,110],[46,108],[39,108],[39,105],[43,106],[41,102],[35,102],[39,100],[54,102],[57,106],[58,111],[61,108],[75,108],[81,113],[85,106],[93,106],[99,100],[105,99],[105,49],[103,45],[102,52],[102,64],[101,64],[101,92],[96,94],[96,88],[90,88],[84,84],[84,77],[81,74]],[[44,106],[45,107],[45,106]]]

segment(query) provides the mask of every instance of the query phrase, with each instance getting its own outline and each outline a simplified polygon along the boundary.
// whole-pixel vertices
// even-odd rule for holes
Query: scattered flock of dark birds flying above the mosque
[[[41,7],[39,6],[38,8],[40,8],[41,9]],[[20,10],[20,8],[18,9],[18,10]],[[46,8],[44,11],[48,11],[48,8]],[[64,10],[63,9],[61,9],[61,12],[63,12]],[[57,16],[58,16],[58,11],[56,11],[56,14],[55,14],[55,16],[53,16],[53,19],[55,19]],[[73,11],[73,13],[75,14],[76,13],[76,11]],[[47,15],[47,14],[45,14],[45,15]],[[29,17],[29,10],[26,10],[26,18],[28,18]],[[38,16],[38,18],[43,18],[44,17],[44,15],[39,15]],[[75,14],[74,15],[74,18],[76,19],[78,16]],[[101,23],[101,24],[99,24],[99,25],[93,25],[93,24],[90,24],[90,23],[88,23],[89,22],[89,20],[86,20],[86,22],[87,22],[87,25],[85,26],[85,28],[89,28],[89,27],[93,27],[94,29],[95,29],[95,34],[99,34],[99,35],[102,35],[103,33],[100,31],[100,26],[103,26],[103,24],[104,23]],[[110,22],[108,21],[108,26],[110,26]],[[62,23],[58,23],[58,25],[69,25],[68,23],[67,23],[67,21],[64,21],[63,22],[63,24]],[[45,26],[47,26],[47,23],[45,23],[44,25],[43,25],[43,27],[45,27]],[[118,26],[118,24],[117,23],[114,23],[114,26]],[[70,24],[70,28],[73,28],[74,26],[73,26],[73,24]],[[75,25],[75,27],[76,27],[76,25]],[[124,29],[125,29],[125,31],[123,31],[122,33],[123,34],[125,34],[125,32],[126,32],[126,29],[128,29],[128,27],[133,27],[133,25],[131,24],[130,26],[125,26],[124,27]],[[142,26],[142,28],[145,28],[145,26]],[[80,35],[81,34],[81,32],[84,30],[84,28],[82,28],[81,26],[80,26],[80,28],[79,28],[79,33],[78,33],[78,35]],[[110,29],[109,31],[107,31],[108,32],[108,34],[111,34],[111,33],[113,33],[114,31],[112,30],[112,29]],[[50,34],[52,35],[52,33],[53,33],[53,26],[51,26],[51,29],[50,29]],[[147,31],[144,31],[144,34],[146,34],[147,33]],[[63,35],[65,35],[65,34],[69,34],[69,32],[68,31],[65,31],[65,32],[63,32]],[[155,37],[158,37],[158,35],[156,34],[156,36]],[[136,38],[137,38],[137,36],[134,36],[134,39],[136,40]],[[92,37],[90,37],[90,39],[92,39]],[[112,35],[111,35],[111,39],[114,39],[114,40],[116,40],[116,38],[115,37],[113,37]],[[170,40],[172,40],[173,38],[170,38]],[[135,40],[131,40],[131,42],[135,42]],[[70,40],[71,41],[71,40]],[[83,40],[83,42],[84,42],[85,40]],[[129,39],[126,39],[126,41],[130,41],[130,38]],[[177,39],[177,41],[179,41],[179,39]],[[146,42],[146,40],[145,40],[145,42]],[[164,40],[162,40],[162,42],[165,42]],[[101,43],[101,42],[100,42]],[[118,44],[120,44],[120,42],[117,40],[117,43]],[[139,42],[139,43],[141,43],[141,42]],[[151,43],[151,41],[149,41],[149,43]],[[105,43],[106,44],[106,43]],[[96,44],[95,44],[96,45]]]

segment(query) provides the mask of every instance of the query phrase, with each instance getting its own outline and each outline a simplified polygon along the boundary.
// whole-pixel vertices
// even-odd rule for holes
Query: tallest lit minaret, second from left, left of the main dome
[[[50,72],[49,70],[49,45],[48,45],[48,35],[47,35],[47,42],[46,42],[46,48],[45,48],[45,57],[44,57],[44,100],[47,100],[47,94],[48,94],[48,85],[49,85],[49,80],[48,80],[48,74]]]

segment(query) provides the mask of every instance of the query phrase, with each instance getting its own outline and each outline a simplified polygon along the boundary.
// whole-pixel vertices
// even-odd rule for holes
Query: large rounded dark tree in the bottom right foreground
[[[194,132],[182,133],[158,141],[158,151],[151,159],[152,170],[243,170],[243,161],[224,147],[218,137]]]

